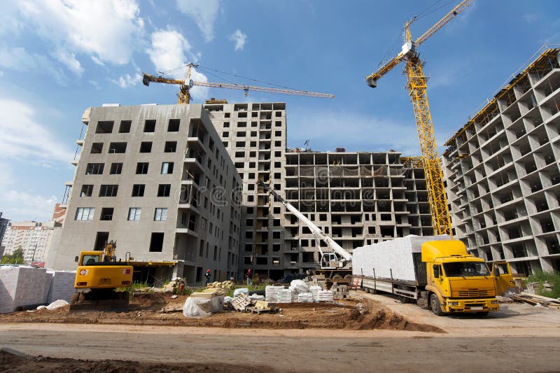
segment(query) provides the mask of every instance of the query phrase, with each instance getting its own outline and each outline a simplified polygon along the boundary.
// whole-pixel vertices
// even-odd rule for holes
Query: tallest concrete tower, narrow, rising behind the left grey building
[[[286,104],[206,104],[223,145],[243,180],[241,268],[280,279],[286,263],[281,255],[283,206],[258,193],[258,178],[283,193],[286,153]]]

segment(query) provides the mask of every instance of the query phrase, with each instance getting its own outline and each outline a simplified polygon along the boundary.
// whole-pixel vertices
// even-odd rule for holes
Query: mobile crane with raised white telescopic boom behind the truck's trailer
[[[264,183],[262,180],[258,180],[257,185],[268,192],[269,195],[272,196],[272,198],[276,199],[276,201],[281,202],[281,204],[283,204],[286,209],[288,209],[288,211],[293,213],[298,219],[302,221],[302,223],[307,225],[309,230],[311,230],[311,233],[315,237],[318,251],[321,255],[321,271],[317,272],[330,274],[330,276],[328,277],[332,278],[339,279],[345,276],[349,279],[351,277],[350,262],[352,260],[352,255],[348,251],[344,250],[342,246],[337,244],[334,239],[330,238],[328,234],[323,232],[321,228],[317,227],[311,220],[304,216],[304,214],[300,213],[300,211],[298,211],[292,204],[290,204],[290,202],[287,202],[286,199],[283,199],[281,195],[270,188],[269,185]],[[324,241],[327,245],[327,248],[330,248],[330,250],[334,252],[323,253],[323,250],[321,249],[321,241]]]

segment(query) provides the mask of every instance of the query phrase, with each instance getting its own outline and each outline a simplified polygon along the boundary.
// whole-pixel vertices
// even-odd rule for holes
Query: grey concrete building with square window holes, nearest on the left
[[[241,178],[202,105],[94,107],[83,123],[49,267],[75,269],[80,251],[116,240],[119,258],[134,257],[134,281],[237,276]]]

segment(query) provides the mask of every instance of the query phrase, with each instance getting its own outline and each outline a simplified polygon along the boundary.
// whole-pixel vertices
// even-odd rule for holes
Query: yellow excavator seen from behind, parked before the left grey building
[[[117,291],[132,284],[130,253],[125,261],[117,261],[116,241],[109,241],[102,251],[82,251],[76,256],[78,269],[70,310],[127,309],[129,294]]]

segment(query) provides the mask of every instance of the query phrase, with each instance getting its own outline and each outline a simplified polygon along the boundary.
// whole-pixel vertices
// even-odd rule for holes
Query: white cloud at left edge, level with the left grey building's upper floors
[[[69,162],[73,152],[35,117],[31,106],[0,98],[0,149],[3,159],[44,166]]]

